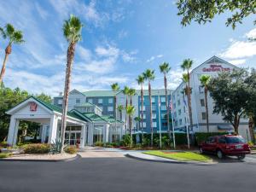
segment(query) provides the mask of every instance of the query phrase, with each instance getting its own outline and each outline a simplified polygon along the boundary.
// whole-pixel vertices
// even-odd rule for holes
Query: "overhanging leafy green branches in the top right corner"
[[[211,22],[215,15],[229,13],[226,26],[236,28],[237,23],[242,22],[249,15],[255,15],[256,3],[254,0],[178,0],[177,15],[182,15],[181,24],[187,26],[191,20],[195,20],[199,24]],[[254,25],[256,20],[254,20]]]

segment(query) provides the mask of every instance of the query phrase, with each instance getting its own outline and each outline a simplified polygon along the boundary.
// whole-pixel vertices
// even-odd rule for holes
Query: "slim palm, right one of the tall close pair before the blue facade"
[[[150,130],[151,130],[151,147],[153,147],[153,120],[152,120],[152,98],[151,98],[151,84],[154,80],[154,70],[147,69],[143,73],[144,79],[148,80],[148,96],[149,96],[149,110],[150,110]]]

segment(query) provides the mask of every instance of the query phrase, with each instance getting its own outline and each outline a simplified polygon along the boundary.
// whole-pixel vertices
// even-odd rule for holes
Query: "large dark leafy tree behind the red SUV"
[[[221,113],[223,119],[233,125],[236,134],[241,117],[246,115],[250,98],[245,83],[247,77],[245,69],[234,69],[232,72],[218,73],[218,77],[212,78],[208,85],[214,100],[213,113]]]

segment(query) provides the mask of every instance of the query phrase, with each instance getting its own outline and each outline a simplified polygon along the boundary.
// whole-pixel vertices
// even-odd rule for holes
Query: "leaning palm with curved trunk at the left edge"
[[[9,55],[12,53],[12,44],[22,44],[24,41],[23,34],[19,30],[15,30],[15,27],[11,24],[7,24],[5,26],[5,29],[1,28],[0,32],[3,36],[3,38],[9,38],[9,43],[7,47],[5,48],[5,55],[3,59],[3,67],[0,73],[0,84],[3,82],[3,75],[5,73],[5,66],[6,62],[8,60]]]

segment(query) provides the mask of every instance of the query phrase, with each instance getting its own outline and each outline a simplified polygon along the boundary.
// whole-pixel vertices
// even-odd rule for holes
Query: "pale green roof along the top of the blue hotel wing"
[[[167,94],[171,94],[172,90],[167,90]],[[83,94],[87,97],[102,97],[102,96],[114,96],[117,92],[113,90],[89,90],[83,92]],[[136,90],[137,96],[141,95],[141,90]],[[148,90],[143,90],[143,95],[148,96]],[[151,90],[152,96],[165,96],[165,89],[160,90]]]

